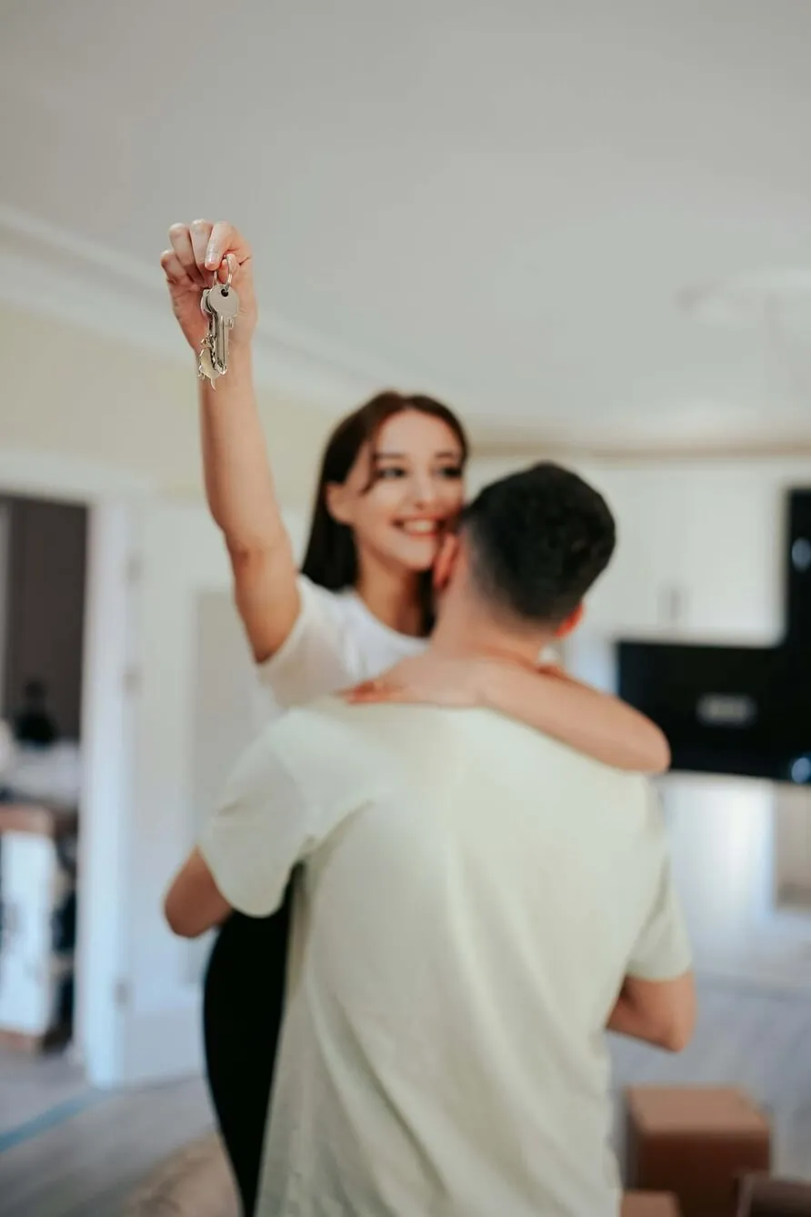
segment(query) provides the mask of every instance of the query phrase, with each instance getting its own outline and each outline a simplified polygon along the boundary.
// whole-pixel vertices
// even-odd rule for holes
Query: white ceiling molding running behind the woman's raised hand
[[[0,204],[0,304],[58,318],[124,341],[178,366],[190,357],[169,308],[162,271]],[[343,414],[382,386],[406,386],[402,369],[342,350],[266,310],[254,338],[258,387]]]

